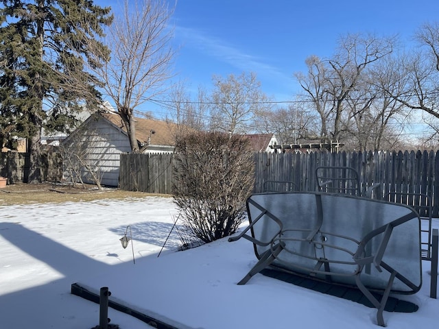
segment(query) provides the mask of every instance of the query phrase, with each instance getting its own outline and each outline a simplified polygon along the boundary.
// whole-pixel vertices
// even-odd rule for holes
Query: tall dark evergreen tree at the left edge
[[[80,106],[99,101],[99,81],[84,63],[101,65],[89,53],[91,44],[108,56],[98,39],[111,21],[110,8],[93,0],[0,1],[0,141],[27,138],[28,182],[41,179],[43,125],[62,130]]]

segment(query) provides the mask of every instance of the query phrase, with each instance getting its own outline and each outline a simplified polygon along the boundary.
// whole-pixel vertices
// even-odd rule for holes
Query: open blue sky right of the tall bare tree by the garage
[[[179,0],[176,71],[193,90],[211,87],[213,74],[252,71],[268,96],[291,100],[300,91],[293,74],[306,71],[308,56],[331,56],[340,36],[398,34],[408,45],[436,20],[438,0]]]

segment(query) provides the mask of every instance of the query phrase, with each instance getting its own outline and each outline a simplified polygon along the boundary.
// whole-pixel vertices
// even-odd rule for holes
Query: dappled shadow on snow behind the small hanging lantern
[[[121,237],[126,232],[126,226],[110,228],[110,232],[115,232]],[[178,230],[182,230],[182,226],[171,223],[161,223],[159,221],[145,221],[143,223],[134,223],[130,225],[132,239],[162,247],[165,244],[167,249],[178,249],[182,245]],[[130,230],[128,230],[128,237]],[[169,235],[169,238],[168,238]]]

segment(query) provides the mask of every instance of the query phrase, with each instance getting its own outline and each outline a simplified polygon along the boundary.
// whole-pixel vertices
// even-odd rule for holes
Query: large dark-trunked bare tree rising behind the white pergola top
[[[385,58],[393,50],[393,40],[348,34],[339,42],[335,56],[307,59],[308,74],[296,74],[305,91],[304,100],[316,110],[321,120],[321,139],[340,140],[349,115],[346,102],[363,83],[366,68]],[[363,104],[367,108],[367,103]]]

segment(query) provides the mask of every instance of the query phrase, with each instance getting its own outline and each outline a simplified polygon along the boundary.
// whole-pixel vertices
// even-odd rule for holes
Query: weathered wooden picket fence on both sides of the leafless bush
[[[267,181],[293,182],[297,191],[316,191],[320,166],[352,167],[364,188],[381,184],[387,193],[423,193],[431,198],[432,216],[439,217],[439,151],[257,153],[254,192]],[[128,191],[172,193],[172,154],[121,154],[120,187]]]

